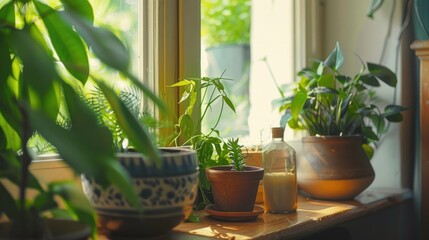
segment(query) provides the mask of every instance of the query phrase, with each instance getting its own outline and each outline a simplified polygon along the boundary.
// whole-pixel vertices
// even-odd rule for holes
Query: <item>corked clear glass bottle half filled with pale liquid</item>
[[[295,212],[298,201],[295,150],[283,140],[284,128],[273,127],[272,141],[262,151],[264,206],[267,212]]]

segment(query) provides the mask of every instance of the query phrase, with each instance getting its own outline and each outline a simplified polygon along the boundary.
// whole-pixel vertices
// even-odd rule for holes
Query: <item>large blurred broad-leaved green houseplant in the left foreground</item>
[[[54,6],[36,0],[0,4],[0,214],[10,220],[9,237],[49,235],[46,217],[60,213],[57,196],[71,210],[69,216],[95,226],[94,215],[75,195],[78,191],[70,192],[70,185],[62,183],[41,185],[30,173],[35,156],[28,141],[36,132],[58,150],[76,174],[95,177],[106,186],[112,183],[130,203],[140,205],[129,176],[115,160],[110,132],[97,124],[95,114],[79,97],[77,89],[89,79],[103,92],[134,147],[160,159],[146,130],[111,84],[91,71],[89,55],[94,54],[163,105],[130,73],[124,44],[93,22],[87,0],[62,0]],[[60,111],[70,118],[69,129],[56,124]],[[18,196],[6,189],[3,180],[18,187]],[[28,198],[29,189],[36,190],[34,198]]]

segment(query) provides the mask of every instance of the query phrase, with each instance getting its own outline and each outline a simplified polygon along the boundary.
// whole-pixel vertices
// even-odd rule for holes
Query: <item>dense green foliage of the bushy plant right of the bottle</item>
[[[396,87],[396,75],[387,67],[362,62],[354,77],[342,75],[339,69],[344,57],[337,43],[324,61],[316,61],[298,75],[293,93],[282,100],[285,110],[282,125],[303,129],[312,136],[345,136],[360,134],[367,153],[371,143],[380,140],[389,122],[400,122],[404,107],[389,104],[380,110],[375,105],[374,88],[381,83]],[[371,157],[371,156],[369,156]]]

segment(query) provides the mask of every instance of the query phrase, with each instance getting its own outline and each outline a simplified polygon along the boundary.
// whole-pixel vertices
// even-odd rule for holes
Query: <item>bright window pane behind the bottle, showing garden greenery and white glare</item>
[[[230,79],[223,83],[236,107],[233,113],[224,106],[217,125],[222,137],[259,144],[279,126],[272,101],[295,75],[293,7],[290,0],[201,1],[202,75]],[[209,110],[203,131],[215,126],[221,110],[221,104]]]

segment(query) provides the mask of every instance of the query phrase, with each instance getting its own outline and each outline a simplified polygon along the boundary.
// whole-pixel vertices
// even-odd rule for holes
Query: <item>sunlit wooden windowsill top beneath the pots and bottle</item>
[[[368,189],[353,201],[320,201],[299,197],[291,214],[261,214],[252,222],[224,222],[197,212],[200,223],[182,223],[171,239],[298,239],[412,199],[408,189]]]

